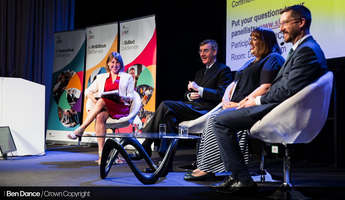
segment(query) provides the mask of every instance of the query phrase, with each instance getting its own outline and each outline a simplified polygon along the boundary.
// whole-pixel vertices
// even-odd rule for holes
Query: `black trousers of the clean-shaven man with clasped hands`
[[[176,125],[183,121],[195,120],[212,110],[215,106],[211,104],[205,108],[206,110],[200,110],[200,107],[197,107],[198,110],[196,110],[195,107],[196,105],[192,101],[163,101],[141,131],[144,133],[158,133],[159,124],[166,124],[166,133],[178,134]],[[166,139],[161,140],[158,151],[161,157],[164,156],[170,141]]]

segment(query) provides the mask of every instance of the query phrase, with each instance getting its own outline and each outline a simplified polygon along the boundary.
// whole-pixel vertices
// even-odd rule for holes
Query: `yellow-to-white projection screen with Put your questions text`
[[[226,65],[231,70],[237,70],[248,59],[250,54],[250,33],[259,26],[272,29],[276,34],[282,56],[287,57],[292,43],[284,43],[284,35],[279,31],[279,11],[292,5],[304,5],[312,13],[310,32],[321,46],[326,59],[343,57],[341,47],[344,40],[339,40],[345,34],[343,11],[345,1],[315,1],[315,0],[227,0],[226,11]],[[253,9],[255,8],[255,9]],[[315,14],[313,14],[315,13]]]

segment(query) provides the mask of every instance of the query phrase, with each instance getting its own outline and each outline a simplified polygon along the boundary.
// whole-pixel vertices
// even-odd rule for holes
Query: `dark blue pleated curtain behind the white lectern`
[[[54,32],[73,30],[74,0],[0,0],[0,77],[46,86],[49,111]],[[20,91],[20,86],[18,86]],[[32,97],[34,98],[34,92]]]

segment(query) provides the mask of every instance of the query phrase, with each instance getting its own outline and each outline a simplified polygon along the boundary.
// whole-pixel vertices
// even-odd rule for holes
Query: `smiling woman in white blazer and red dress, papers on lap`
[[[95,106],[91,108],[82,125],[75,131],[67,134],[67,137],[75,140],[77,134],[82,134],[85,128],[96,119],[95,132],[97,134],[106,133],[105,121],[111,117],[119,119],[129,114],[129,106],[134,99],[133,95],[133,78],[130,74],[124,73],[125,67],[119,53],[112,52],[109,54],[106,62],[106,71],[108,73],[97,75],[96,80],[92,82],[90,87],[85,90],[85,97],[95,101]],[[95,99],[93,93],[114,91],[118,89],[119,96],[116,99],[99,98]],[[102,155],[105,138],[97,137],[98,142],[98,162]]]

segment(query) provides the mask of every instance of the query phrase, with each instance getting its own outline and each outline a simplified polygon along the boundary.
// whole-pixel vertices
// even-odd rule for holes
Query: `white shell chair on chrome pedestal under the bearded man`
[[[287,144],[309,143],[321,131],[328,114],[332,86],[333,73],[329,71],[267,113],[248,132],[248,137],[285,146],[284,183],[279,187],[285,194],[281,195],[296,191],[291,190]]]

